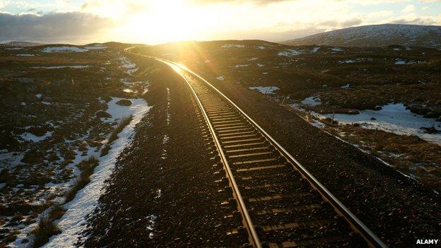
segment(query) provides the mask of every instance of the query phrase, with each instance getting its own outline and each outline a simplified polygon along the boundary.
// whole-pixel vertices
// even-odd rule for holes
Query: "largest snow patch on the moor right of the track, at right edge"
[[[402,103],[384,105],[382,110],[360,110],[359,112],[360,114],[335,114],[334,119],[343,124],[359,123],[365,129],[380,129],[394,134],[412,134],[425,141],[441,145],[441,134],[425,134],[421,129],[421,127],[431,126],[440,129],[441,123],[435,119],[413,114],[410,110],[406,110]],[[332,114],[322,115],[322,117],[329,118],[331,116]]]

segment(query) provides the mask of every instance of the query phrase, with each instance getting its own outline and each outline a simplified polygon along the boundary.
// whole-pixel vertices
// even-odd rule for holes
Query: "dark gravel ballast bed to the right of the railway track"
[[[437,239],[441,199],[372,155],[324,133],[260,93],[216,87],[233,100],[391,247]]]

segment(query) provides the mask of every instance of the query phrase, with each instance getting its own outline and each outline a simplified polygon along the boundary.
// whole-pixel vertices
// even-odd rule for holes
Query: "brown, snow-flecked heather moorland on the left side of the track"
[[[57,233],[60,204],[90,182],[102,150],[110,150],[107,138],[131,121],[124,118],[131,99],[142,98],[148,82],[122,56],[126,46],[0,45],[0,246],[18,235],[30,242],[21,233],[28,225],[36,246]]]

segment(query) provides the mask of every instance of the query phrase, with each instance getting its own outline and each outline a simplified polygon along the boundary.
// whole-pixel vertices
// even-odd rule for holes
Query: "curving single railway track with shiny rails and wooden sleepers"
[[[220,204],[237,204],[250,246],[387,247],[213,85],[180,64],[154,59],[180,73],[192,91],[225,171],[216,182],[233,196]]]

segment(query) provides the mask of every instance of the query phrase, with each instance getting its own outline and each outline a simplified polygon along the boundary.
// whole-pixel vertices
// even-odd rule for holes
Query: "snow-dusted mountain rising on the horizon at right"
[[[339,47],[441,47],[441,26],[382,24],[343,28],[281,42],[284,45],[329,45]]]

